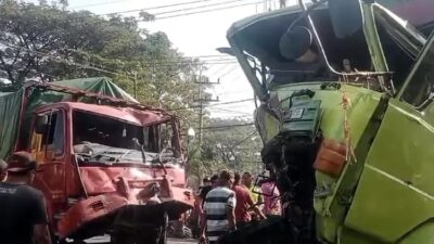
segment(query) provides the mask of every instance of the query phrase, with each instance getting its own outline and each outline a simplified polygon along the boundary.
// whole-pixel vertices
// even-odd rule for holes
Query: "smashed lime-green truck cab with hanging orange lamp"
[[[286,243],[433,242],[433,11],[425,0],[299,0],[228,30],[260,101]]]

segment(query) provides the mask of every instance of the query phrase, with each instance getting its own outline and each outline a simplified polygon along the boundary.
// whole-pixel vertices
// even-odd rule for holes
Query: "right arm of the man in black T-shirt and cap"
[[[34,208],[34,240],[37,244],[51,244],[47,206],[42,195],[38,196]]]

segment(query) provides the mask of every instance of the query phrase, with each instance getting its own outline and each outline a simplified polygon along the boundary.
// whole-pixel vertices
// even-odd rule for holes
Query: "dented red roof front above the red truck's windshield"
[[[50,108],[62,107],[66,110],[81,111],[85,113],[95,114],[102,117],[111,117],[114,119],[119,119],[126,123],[136,124],[140,126],[148,126],[155,123],[162,123],[173,118],[171,116],[164,114],[159,111],[152,111],[152,110],[140,111],[132,107],[115,107],[107,105],[80,103],[80,102],[60,102],[55,104],[44,105],[38,107],[36,113],[44,111],[48,107]]]

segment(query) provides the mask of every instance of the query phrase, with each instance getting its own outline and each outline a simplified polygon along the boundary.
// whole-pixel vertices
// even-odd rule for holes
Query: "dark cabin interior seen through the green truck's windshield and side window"
[[[324,62],[307,20],[299,17],[301,14],[298,7],[286,8],[276,11],[275,14],[257,17],[251,23],[245,24],[241,21],[229,30],[228,37],[232,48],[234,46],[245,54],[241,59],[250,62],[256,70],[256,77],[268,90],[286,84],[333,81],[339,78]],[[396,21],[381,9],[375,9],[374,15],[385,59],[394,74],[395,88],[399,88],[422,44],[411,43],[417,52],[407,50],[401,44],[401,38],[408,36],[405,33],[407,30],[397,28]],[[327,8],[319,7],[310,11],[310,16],[329,64],[335,70],[374,72],[362,28],[350,36],[337,38],[332,31],[330,11]],[[257,61],[266,67],[265,70]],[[265,72],[266,76],[261,72]]]

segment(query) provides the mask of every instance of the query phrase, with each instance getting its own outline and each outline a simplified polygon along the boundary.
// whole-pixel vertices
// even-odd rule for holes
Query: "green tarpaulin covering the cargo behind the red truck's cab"
[[[130,102],[137,102],[130,94],[105,77],[62,80],[53,84],[87,92],[110,95]],[[20,107],[22,106],[22,98],[25,89],[26,88],[22,88],[16,92],[0,92],[0,158],[5,158],[10,155],[18,138]],[[23,137],[28,137],[26,132],[28,133],[29,130],[29,118],[36,107],[44,104],[72,100],[72,95],[66,93],[42,91],[41,89],[34,88],[29,89],[31,92],[28,98],[28,104],[25,107],[26,114],[23,127],[25,133],[21,133]]]

